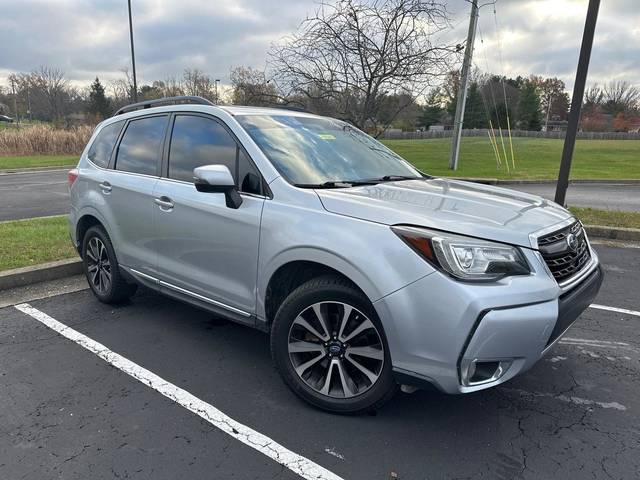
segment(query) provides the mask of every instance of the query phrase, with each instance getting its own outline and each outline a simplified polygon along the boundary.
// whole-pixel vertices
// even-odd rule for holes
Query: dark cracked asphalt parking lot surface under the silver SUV
[[[640,310],[640,249],[596,248],[606,272],[597,304]],[[87,290],[29,303],[170,382],[160,390],[183,389],[266,437],[242,443],[236,427],[225,433],[198,408],[5,307],[2,479],[286,479],[300,478],[304,461],[321,467],[305,470],[309,479],[640,476],[633,312],[588,309],[545,359],[498,388],[398,394],[377,415],[343,417],[287,390],[264,333],[148,291],[117,308]],[[271,442],[295,455],[278,463]]]

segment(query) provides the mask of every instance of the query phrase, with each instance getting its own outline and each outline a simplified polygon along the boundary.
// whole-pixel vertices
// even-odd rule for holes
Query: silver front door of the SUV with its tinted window
[[[209,115],[176,114],[154,209],[163,286],[248,319],[255,311],[263,181],[228,128]],[[242,195],[198,192],[193,169],[229,167]]]

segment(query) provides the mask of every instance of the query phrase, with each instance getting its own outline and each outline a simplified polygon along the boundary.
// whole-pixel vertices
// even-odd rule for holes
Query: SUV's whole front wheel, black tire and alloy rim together
[[[329,412],[375,411],[397,391],[375,309],[338,276],[309,280],[289,294],[273,321],[271,356],[296,395]]]

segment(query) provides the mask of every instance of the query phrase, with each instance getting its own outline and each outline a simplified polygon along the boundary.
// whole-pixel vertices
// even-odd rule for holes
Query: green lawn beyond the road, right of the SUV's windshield
[[[384,143],[425,173],[440,176],[501,179],[555,179],[558,177],[564,140],[514,138],[515,171],[496,168],[489,138],[464,137],[459,168],[449,170],[451,139],[384,140]],[[507,152],[509,145],[505,143]],[[502,148],[500,148],[502,150]],[[502,151],[500,152],[502,156]],[[510,155],[510,154],[509,154]],[[640,179],[640,141],[578,140],[573,154],[571,178]]]

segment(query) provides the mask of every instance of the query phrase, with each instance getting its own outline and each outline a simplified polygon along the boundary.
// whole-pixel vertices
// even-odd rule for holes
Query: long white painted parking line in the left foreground
[[[210,424],[219,428],[231,437],[257,450],[267,457],[285,466],[292,472],[308,480],[342,480],[333,472],[321,467],[311,460],[283,447],[276,441],[230,418],[213,405],[210,405],[191,393],[164,380],[153,372],[141,367],[131,360],[119,355],[101,343],[92,340],[71,327],[60,323],[44,312],[33,308],[28,303],[15,305],[15,308],[43,323],[51,330],[95,353],[98,357],[127,375],[153,388],[165,397],[173,400],[187,410],[195,413]]]

